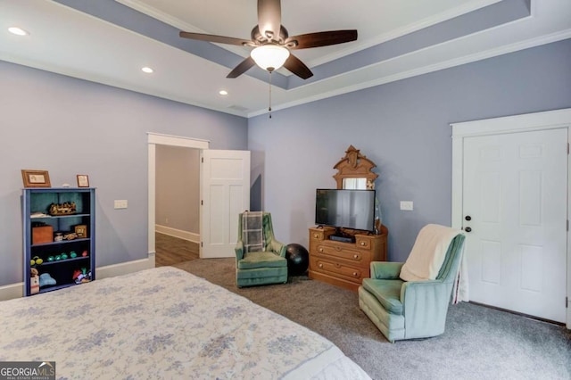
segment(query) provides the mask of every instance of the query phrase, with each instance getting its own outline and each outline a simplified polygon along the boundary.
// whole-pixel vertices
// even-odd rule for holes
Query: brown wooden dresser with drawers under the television
[[[370,262],[386,260],[388,230],[380,235],[355,234],[355,243],[330,240],[333,227],[310,228],[309,277],[357,291],[363,278],[370,277]]]

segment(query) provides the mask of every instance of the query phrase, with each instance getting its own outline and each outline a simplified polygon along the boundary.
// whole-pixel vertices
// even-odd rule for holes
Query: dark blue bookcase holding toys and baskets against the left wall
[[[95,188],[24,188],[24,295],[95,280]]]

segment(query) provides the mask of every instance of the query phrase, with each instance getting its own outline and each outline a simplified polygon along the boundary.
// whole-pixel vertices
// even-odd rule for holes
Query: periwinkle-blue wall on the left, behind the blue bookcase
[[[96,265],[147,256],[147,135],[247,149],[247,120],[0,62],[0,285],[22,280],[21,169],[97,187]],[[113,210],[113,200],[128,200]]]

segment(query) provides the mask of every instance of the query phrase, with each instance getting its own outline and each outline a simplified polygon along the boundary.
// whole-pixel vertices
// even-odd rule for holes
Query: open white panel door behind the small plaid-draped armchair
[[[250,152],[207,149],[201,162],[200,257],[234,257],[238,214],[250,208]]]

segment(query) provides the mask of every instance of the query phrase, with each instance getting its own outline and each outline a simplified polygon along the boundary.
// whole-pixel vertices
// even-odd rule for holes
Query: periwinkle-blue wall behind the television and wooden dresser
[[[571,107],[570,62],[566,40],[249,120],[277,239],[307,246],[315,189],[335,187],[333,166],[354,145],[377,163],[389,259],[406,260],[420,227],[451,224],[449,124]]]

